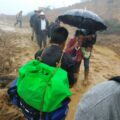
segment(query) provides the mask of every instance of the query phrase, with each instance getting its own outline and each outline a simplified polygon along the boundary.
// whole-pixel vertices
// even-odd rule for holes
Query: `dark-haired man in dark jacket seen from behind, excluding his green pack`
[[[38,50],[35,53],[35,59],[38,59],[42,54],[42,61],[44,63],[50,66],[56,66],[60,54],[64,49],[67,34],[67,30],[64,27],[55,28],[51,36],[50,46],[46,48],[43,54],[43,50]],[[61,67],[68,72],[69,85],[70,87],[73,87],[76,83],[76,70],[74,60],[69,54],[64,53]]]

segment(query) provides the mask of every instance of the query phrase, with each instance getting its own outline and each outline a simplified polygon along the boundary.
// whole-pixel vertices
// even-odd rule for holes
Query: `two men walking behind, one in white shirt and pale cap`
[[[35,10],[30,18],[30,26],[32,27],[33,36],[35,34],[37,43],[40,48],[46,47],[48,20],[42,10]]]

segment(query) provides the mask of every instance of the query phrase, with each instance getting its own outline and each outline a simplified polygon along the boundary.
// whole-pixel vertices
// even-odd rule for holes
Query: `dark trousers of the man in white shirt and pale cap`
[[[39,45],[40,48],[42,47],[46,47],[46,41],[47,41],[47,34],[45,31],[41,31],[40,34],[36,34],[36,38],[37,38],[37,43]]]

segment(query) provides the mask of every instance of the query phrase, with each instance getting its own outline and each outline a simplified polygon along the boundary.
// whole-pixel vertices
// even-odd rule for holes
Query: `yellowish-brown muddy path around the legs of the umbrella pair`
[[[81,81],[84,79],[83,75],[84,74],[82,67],[78,80],[80,89],[77,92],[72,89],[74,94],[71,98],[70,110],[67,120],[74,120],[74,114],[77,109],[77,104],[87,90],[112,76],[120,75],[120,56],[106,47],[95,46],[91,57],[90,66],[89,79],[91,81],[91,84],[86,87],[81,85]]]

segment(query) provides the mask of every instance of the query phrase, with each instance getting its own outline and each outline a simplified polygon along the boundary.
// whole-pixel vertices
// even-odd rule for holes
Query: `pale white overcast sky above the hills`
[[[81,0],[0,0],[0,13],[16,14],[20,10],[26,14],[38,7],[64,7],[74,3],[79,3]]]

